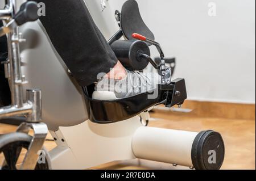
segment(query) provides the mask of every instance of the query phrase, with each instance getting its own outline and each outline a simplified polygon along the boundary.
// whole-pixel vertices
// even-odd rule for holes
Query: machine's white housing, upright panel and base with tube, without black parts
[[[108,1],[104,11],[100,0],[85,3],[108,39],[118,30]],[[57,144],[50,151],[53,169],[86,169],[135,158],[193,166],[191,151],[198,133],[143,127],[139,115],[113,124],[90,122],[81,87],[68,73],[40,21],[26,23],[21,30],[27,39],[21,47],[26,89],[42,90],[43,122]]]

